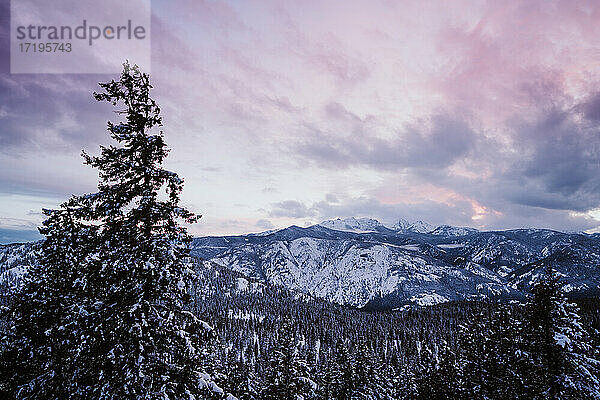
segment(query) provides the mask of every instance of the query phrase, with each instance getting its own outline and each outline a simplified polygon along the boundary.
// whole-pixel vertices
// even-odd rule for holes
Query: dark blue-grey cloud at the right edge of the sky
[[[588,211],[600,206],[600,126],[580,115],[553,110],[534,124],[520,124],[521,156],[510,173],[518,204]]]

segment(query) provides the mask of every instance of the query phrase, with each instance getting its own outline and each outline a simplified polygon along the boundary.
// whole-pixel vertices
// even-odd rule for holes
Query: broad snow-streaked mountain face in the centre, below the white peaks
[[[210,261],[356,307],[388,296],[409,299],[436,293],[433,298],[447,301],[482,297],[493,290],[506,291],[498,287],[499,277],[490,279],[399,246],[353,240],[300,237],[270,241],[240,246]],[[487,275],[494,274],[488,271]]]

